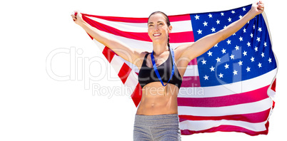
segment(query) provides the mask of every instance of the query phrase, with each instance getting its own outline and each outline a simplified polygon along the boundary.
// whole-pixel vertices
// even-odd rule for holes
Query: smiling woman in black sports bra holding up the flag
[[[205,36],[195,43],[182,44],[174,51],[169,48],[168,34],[171,33],[172,26],[168,17],[162,12],[154,12],[148,17],[148,36],[153,41],[153,53],[129,48],[90,26],[83,21],[81,14],[71,16],[90,36],[139,68],[142,98],[136,112],[134,140],[181,140],[177,95],[189,61],[236,33],[248,21],[261,14],[263,9],[264,4],[259,1],[253,4],[243,18],[221,31]]]

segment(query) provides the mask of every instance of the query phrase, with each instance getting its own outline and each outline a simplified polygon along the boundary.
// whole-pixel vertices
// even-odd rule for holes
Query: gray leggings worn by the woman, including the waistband
[[[134,141],[178,141],[178,115],[136,115]]]

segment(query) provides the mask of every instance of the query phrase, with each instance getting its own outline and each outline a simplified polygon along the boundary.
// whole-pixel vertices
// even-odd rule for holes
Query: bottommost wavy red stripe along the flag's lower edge
[[[269,122],[266,123],[266,129],[264,131],[255,132],[253,130],[248,130],[243,127],[233,126],[233,125],[220,125],[218,127],[212,127],[208,130],[200,130],[200,131],[193,131],[193,130],[181,130],[181,135],[192,135],[195,133],[203,133],[203,132],[244,132],[247,135],[255,136],[255,135],[267,135],[268,134],[268,126]]]

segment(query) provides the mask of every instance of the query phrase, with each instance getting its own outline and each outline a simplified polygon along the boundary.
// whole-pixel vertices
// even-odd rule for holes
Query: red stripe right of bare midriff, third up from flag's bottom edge
[[[253,103],[268,98],[268,87],[269,85],[246,93],[236,93],[234,95],[226,95],[213,98],[177,98],[178,106],[214,108],[244,103]]]

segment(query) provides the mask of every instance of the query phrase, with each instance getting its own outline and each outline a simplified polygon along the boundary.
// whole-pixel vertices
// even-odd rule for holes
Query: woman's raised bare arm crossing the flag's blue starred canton
[[[193,58],[201,56],[201,54],[215,46],[216,43],[219,43],[220,41],[223,41],[231,36],[233,33],[236,33],[236,31],[241,29],[248,21],[253,19],[256,15],[261,14],[263,9],[264,4],[262,1],[256,2],[251,6],[251,10],[248,11],[248,13],[243,16],[242,19],[231,23],[221,31],[204,36],[195,43],[186,43],[178,46],[178,48],[176,48],[176,52],[178,52],[179,58],[184,58],[185,60],[187,59],[188,61],[191,61]]]

